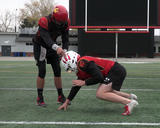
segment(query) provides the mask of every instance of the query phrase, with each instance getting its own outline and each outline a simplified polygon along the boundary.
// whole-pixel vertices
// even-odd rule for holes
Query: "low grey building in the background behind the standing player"
[[[33,56],[32,37],[37,28],[21,29],[16,32],[0,32],[0,56]],[[77,30],[69,31],[69,50],[77,51]],[[58,37],[57,43],[61,44],[61,38]]]

